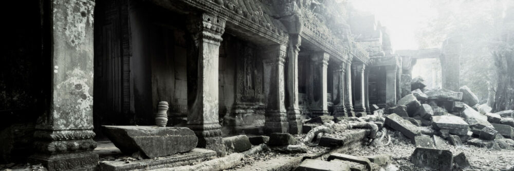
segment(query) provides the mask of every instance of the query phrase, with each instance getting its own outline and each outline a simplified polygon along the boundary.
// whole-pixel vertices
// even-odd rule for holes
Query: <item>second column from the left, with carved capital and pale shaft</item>
[[[218,120],[218,55],[225,20],[210,14],[188,20],[195,45],[196,93],[188,104],[188,127],[198,137],[197,147],[212,149],[223,156],[225,145]],[[192,76],[193,77],[193,76]]]

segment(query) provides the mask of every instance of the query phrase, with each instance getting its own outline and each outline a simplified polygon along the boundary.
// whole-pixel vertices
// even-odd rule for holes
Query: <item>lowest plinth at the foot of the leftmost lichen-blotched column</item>
[[[98,165],[98,155],[91,152],[76,152],[63,154],[35,154],[29,158],[30,163],[41,163],[51,170],[95,170]]]

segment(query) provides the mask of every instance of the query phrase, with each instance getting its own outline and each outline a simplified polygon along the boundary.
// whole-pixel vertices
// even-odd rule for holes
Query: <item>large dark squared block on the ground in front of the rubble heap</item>
[[[412,153],[411,162],[425,169],[451,170],[453,154],[446,149],[417,147]]]

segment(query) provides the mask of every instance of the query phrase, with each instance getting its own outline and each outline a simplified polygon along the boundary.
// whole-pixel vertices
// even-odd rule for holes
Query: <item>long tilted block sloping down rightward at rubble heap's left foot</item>
[[[421,134],[416,125],[396,114],[386,116],[386,121],[384,121],[384,124],[391,127],[393,130],[401,132],[409,139],[414,139],[416,135]]]

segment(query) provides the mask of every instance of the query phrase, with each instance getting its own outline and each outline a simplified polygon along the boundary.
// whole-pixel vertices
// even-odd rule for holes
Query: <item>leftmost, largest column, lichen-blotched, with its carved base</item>
[[[51,60],[51,94],[35,126],[31,163],[48,170],[94,170],[93,153],[93,12],[94,1],[42,1],[50,36],[44,57]],[[75,10],[69,10],[75,9]],[[50,69],[51,67],[51,69]],[[51,72],[51,73],[50,73]]]

